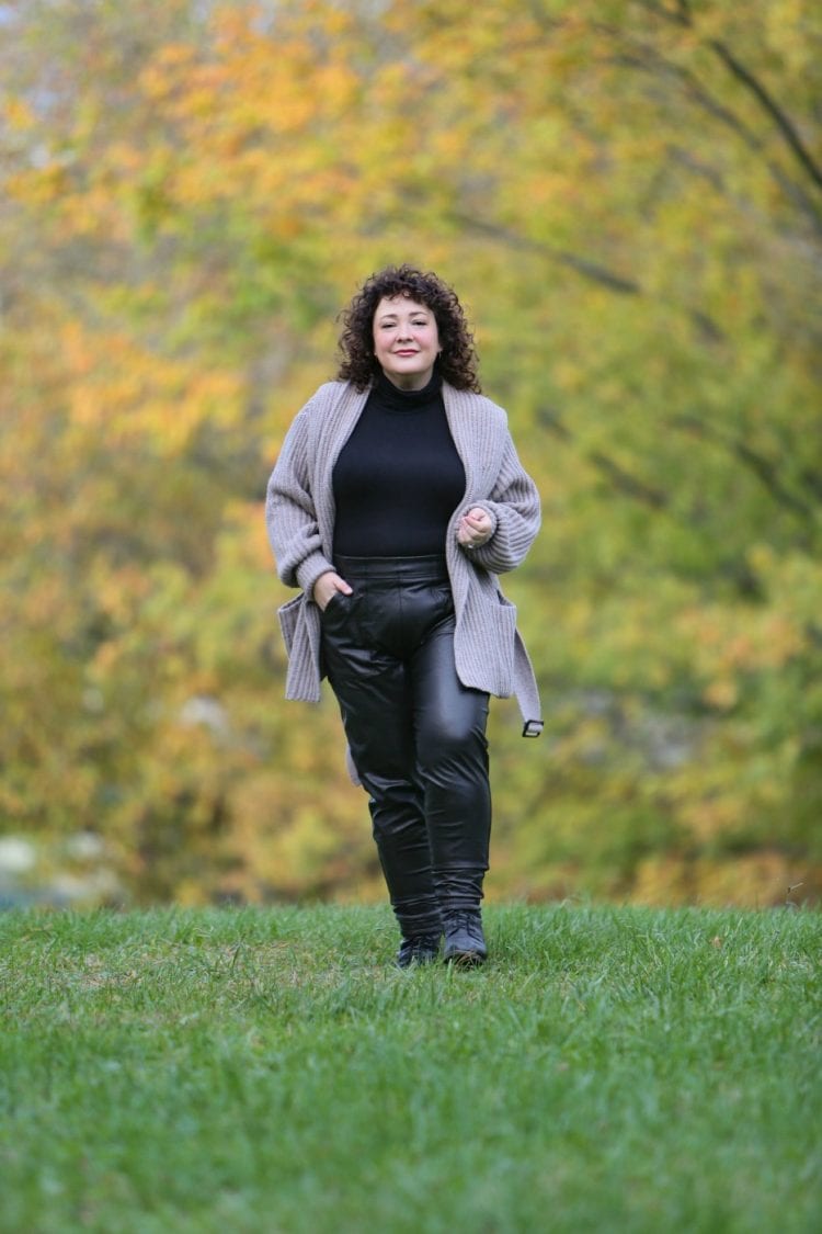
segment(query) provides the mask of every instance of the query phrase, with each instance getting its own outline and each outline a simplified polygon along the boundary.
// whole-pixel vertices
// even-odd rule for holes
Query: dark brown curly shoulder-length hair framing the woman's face
[[[457,390],[479,394],[473,334],[456,292],[436,274],[423,274],[413,265],[387,265],[385,270],[371,274],[340,313],[343,333],[338,346],[343,359],[338,378],[354,383],[357,390],[365,390],[377,376],[380,364],[373,354],[373,315],[383,297],[394,296],[407,296],[431,310],[442,348],[437,359],[442,379]]]

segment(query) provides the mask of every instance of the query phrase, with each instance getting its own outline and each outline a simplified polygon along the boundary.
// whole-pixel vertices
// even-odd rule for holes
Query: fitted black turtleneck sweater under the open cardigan
[[[435,373],[423,390],[380,375],[334,466],[334,554],[423,557],[445,552],[465,494]]]

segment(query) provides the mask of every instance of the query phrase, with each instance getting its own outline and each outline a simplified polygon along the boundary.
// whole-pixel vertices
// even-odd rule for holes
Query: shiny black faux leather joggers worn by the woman
[[[324,668],[402,933],[437,934],[442,913],[478,907],[488,869],[488,695],[456,674],[444,558],[335,566],[352,595],[322,615]]]

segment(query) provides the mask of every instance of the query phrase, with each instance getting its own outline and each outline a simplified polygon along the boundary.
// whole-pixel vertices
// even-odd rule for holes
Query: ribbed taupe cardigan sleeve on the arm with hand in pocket
[[[322,401],[318,391],[297,415],[282,443],[271,473],[265,501],[269,542],[277,574],[287,587],[302,587],[308,595],[320,574],[334,565],[323,552],[314,495],[311,490],[311,417]]]

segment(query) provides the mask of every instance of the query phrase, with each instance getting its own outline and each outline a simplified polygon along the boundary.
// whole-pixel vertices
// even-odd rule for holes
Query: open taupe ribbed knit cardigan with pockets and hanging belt
[[[286,586],[302,589],[279,613],[288,652],[287,698],[320,697],[319,610],[312,590],[320,574],[334,569],[332,473],[368,394],[343,381],[320,386],[288,429],[269,480],[266,527],[277,574]],[[535,735],[541,723],[534,670],[516,631],[516,610],[497,575],[525,558],[540,527],[540,497],[516,457],[503,408],[445,383],[442,400],[466,474],[465,497],[445,538],[457,676],[499,697],[515,694],[527,735]],[[456,529],[473,506],[490,516],[494,529],[486,544],[467,550],[457,543]]]

